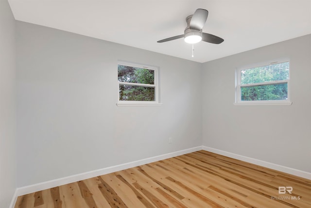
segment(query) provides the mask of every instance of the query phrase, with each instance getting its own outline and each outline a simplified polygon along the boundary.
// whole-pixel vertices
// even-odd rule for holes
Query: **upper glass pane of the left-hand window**
[[[155,84],[155,71],[132,66],[118,65],[118,80],[141,84]]]

